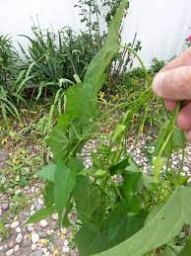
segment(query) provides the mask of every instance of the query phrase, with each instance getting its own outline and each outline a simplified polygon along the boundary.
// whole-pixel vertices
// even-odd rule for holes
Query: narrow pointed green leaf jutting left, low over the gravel
[[[56,212],[56,208],[44,208],[39,210],[36,213],[33,213],[32,216],[28,218],[26,221],[26,224],[31,224],[40,221],[41,219],[47,218],[48,216],[51,216],[53,213]]]

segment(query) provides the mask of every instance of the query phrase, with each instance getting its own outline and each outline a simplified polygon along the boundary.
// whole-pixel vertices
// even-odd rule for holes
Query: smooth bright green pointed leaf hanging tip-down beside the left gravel
[[[77,159],[71,159],[67,164],[62,161],[56,164],[54,200],[60,221],[62,221],[63,210],[76,184],[76,177],[81,168],[82,164]]]

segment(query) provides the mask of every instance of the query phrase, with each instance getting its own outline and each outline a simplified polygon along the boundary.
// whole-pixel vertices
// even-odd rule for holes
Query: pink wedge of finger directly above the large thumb
[[[190,66],[191,65],[191,47],[185,50],[179,57],[176,57],[165,65],[160,72],[168,71],[180,66]]]

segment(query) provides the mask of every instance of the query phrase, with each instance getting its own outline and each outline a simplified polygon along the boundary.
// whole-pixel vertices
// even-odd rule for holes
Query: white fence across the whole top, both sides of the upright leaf
[[[1,0],[0,33],[30,34],[36,15],[42,28],[55,30],[71,26],[77,32],[80,19],[74,4],[77,0]],[[169,59],[180,52],[191,27],[190,0],[131,0],[123,39],[131,42],[135,32],[142,41],[142,57],[149,65],[153,57]],[[191,31],[190,31],[191,33]]]

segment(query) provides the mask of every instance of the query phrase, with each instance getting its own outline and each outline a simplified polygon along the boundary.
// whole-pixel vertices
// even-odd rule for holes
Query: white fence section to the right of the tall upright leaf
[[[184,40],[191,33],[190,0],[131,0],[130,3],[123,38],[128,42],[138,33],[146,64],[153,57],[168,60],[183,49]]]

